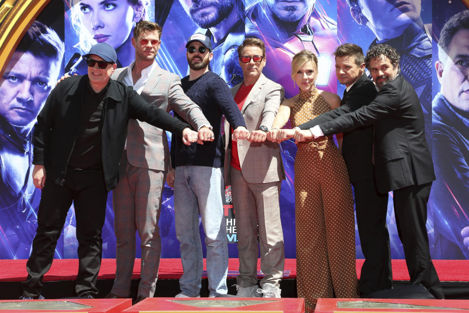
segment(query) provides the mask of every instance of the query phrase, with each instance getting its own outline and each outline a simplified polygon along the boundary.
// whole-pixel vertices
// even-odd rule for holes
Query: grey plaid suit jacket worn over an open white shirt
[[[116,69],[111,78],[122,82],[127,75],[127,68]],[[179,76],[161,67],[156,66],[151,71],[141,96],[150,105],[155,105],[167,112],[174,110],[195,130],[202,125],[210,125],[199,106],[192,102],[182,90]],[[135,167],[168,171],[171,167],[171,158],[166,132],[145,122],[129,120],[127,159]]]

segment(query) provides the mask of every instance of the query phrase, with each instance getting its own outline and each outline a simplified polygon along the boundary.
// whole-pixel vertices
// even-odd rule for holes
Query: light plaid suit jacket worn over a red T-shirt
[[[231,89],[233,97],[241,84]],[[270,130],[284,95],[285,91],[282,86],[260,74],[241,110],[247,129],[254,131],[263,125]],[[230,124],[227,121],[225,121],[225,139],[225,184],[229,185],[231,137]],[[277,143],[269,140],[264,142],[238,140],[236,145],[241,172],[247,182],[263,183],[285,179],[280,146]]]

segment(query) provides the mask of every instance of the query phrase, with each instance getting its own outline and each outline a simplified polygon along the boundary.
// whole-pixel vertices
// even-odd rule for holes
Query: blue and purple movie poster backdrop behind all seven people
[[[337,82],[332,55],[337,45],[354,43],[360,45],[363,52],[377,43],[396,47],[401,54],[400,74],[416,90],[424,111],[426,136],[437,174],[428,202],[430,251],[436,259],[468,259],[469,48],[460,44],[458,49],[464,46],[465,52],[453,55],[451,47],[459,42],[469,42],[469,30],[464,30],[464,27],[469,28],[469,22],[454,35],[455,40],[450,42],[446,52],[448,57],[440,60],[438,55],[443,26],[454,15],[468,10],[467,1],[410,0],[396,8],[390,0],[298,0],[301,5],[292,6],[290,11],[283,13],[276,10],[276,2],[51,0],[30,30],[40,29],[42,37],[52,42],[58,53],[33,51],[34,45],[24,48],[25,44],[20,44],[5,65],[0,82],[0,258],[27,258],[30,253],[41,196],[41,191],[35,189],[31,181],[32,127],[55,80],[65,72],[85,74],[86,66],[81,56],[99,42],[106,42],[116,49],[119,67],[130,65],[134,59],[130,43],[132,29],[136,21],[145,18],[163,26],[162,43],[156,58],[160,67],[186,76],[185,44],[194,32],[202,32],[212,39],[214,58],[210,69],[230,87],[242,82],[237,46],[245,37],[261,38],[266,44],[267,60],[263,72],[284,87],[286,97],[298,92],[290,77],[290,62],[302,49],[309,49],[318,56],[318,88],[341,95],[344,86]],[[197,5],[208,3],[213,5],[210,14],[198,15],[193,10]],[[135,10],[136,4],[140,9]],[[26,43],[24,37],[22,42]],[[171,140],[171,134],[168,138]],[[288,140],[280,147],[287,177],[282,181],[280,194],[285,256],[295,258],[293,164],[296,146]],[[387,223],[391,255],[404,258],[394,220],[392,193],[389,198]],[[159,225],[162,257],[168,258],[180,256],[173,203],[173,191],[165,186]],[[224,209],[228,241],[233,243],[229,245],[230,257],[237,257],[236,208],[231,202],[230,187],[226,190]],[[56,258],[77,257],[75,227],[72,205]],[[202,225],[200,232],[203,236]],[[356,244],[357,258],[362,258],[358,231]],[[103,257],[115,257],[111,192],[103,228]]]

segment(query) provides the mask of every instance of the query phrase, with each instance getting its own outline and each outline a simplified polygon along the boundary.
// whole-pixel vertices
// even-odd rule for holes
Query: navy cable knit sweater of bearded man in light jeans
[[[203,145],[192,143],[190,146],[183,144],[181,137],[173,135],[171,140],[171,164],[177,166],[210,166],[223,167],[225,158],[225,145],[220,134],[222,116],[233,129],[239,126],[246,127],[243,115],[238,109],[230,89],[225,81],[208,71],[197,79],[189,81],[189,76],[181,79],[182,89],[204,113],[213,127],[215,140],[204,142]],[[174,114],[177,116],[177,114]],[[180,116],[177,116],[181,119]]]

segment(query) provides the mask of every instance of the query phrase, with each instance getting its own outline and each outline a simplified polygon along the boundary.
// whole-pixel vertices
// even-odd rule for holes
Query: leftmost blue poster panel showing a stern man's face
[[[27,259],[41,191],[31,178],[32,129],[63,73],[64,5],[51,2],[23,36],[0,80],[0,258]],[[56,258],[64,257],[63,236]]]

